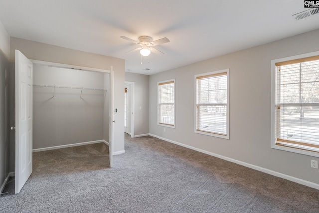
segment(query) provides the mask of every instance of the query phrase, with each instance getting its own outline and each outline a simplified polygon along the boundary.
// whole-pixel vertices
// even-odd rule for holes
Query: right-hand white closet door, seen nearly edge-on
[[[109,107],[109,160],[110,167],[113,167],[113,125],[114,120],[114,72],[111,67],[110,73],[110,107]]]

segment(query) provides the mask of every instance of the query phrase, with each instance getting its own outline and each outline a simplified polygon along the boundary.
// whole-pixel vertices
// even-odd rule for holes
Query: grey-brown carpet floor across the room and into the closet
[[[113,168],[104,144],[34,153],[0,212],[319,213],[319,190],[154,137],[125,140]]]

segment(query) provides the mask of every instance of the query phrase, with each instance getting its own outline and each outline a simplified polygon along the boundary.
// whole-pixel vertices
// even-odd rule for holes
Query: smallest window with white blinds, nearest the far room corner
[[[175,79],[158,82],[158,125],[175,127]]]

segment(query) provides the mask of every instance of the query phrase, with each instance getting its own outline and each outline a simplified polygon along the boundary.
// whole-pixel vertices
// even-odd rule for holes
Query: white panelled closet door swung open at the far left
[[[15,50],[15,193],[32,173],[33,64]]]

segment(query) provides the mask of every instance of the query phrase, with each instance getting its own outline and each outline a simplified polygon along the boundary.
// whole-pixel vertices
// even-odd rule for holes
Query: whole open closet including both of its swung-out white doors
[[[113,166],[113,88],[112,66],[29,60],[15,50],[15,194],[32,172],[37,178]]]

